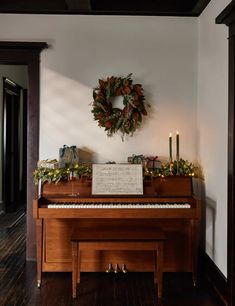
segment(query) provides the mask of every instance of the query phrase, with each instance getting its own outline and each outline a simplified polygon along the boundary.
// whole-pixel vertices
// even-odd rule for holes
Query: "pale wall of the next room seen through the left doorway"
[[[0,122],[2,123],[3,116],[3,78],[8,77],[9,79],[16,82],[23,88],[27,88],[27,67],[16,66],[16,65],[0,65]],[[2,133],[3,125],[0,124],[0,203],[2,202]],[[1,206],[0,206],[1,208]],[[1,211],[1,209],[0,209]]]

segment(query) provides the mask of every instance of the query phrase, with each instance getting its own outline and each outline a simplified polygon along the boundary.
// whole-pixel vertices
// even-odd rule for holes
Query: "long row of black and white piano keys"
[[[101,209],[139,209],[139,208],[191,208],[189,203],[146,203],[146,204],[136,204],[136,203],[53,203],[47,206],[48,208],[101,208]]]

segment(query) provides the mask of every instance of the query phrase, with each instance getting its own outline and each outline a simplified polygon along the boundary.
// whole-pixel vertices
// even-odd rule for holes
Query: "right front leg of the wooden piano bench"
[[[163,243],[157,243],[157,250],[155,251],[155,270],[154,283],[157,286],[157,297],[162,298],[162,267],[163,267]]]

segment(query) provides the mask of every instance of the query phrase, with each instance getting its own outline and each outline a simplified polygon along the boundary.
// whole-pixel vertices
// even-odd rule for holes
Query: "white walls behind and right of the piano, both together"
[[[46,41],[41,55],[40,158],[63,144],[94,161],[133,153],[168,156],[180,131],[181,155],[203,166],[206,251],[226,275],[227,29],[212,0],[200,18],[0,15],[0,40]],[[107,138],[90,112],[99,78],[133,73],[152,107],[133,138]],[[214,215],[213,215],[214,214]]]

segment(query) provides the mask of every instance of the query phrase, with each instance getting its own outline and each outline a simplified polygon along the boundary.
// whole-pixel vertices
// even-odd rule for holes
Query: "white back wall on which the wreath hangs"
[[[133,153],[166,158],[169,132],[176,130],[182,156],[195,159],[195,18],[0,17],[1,40],[51,44],[41,61],[41,159],[58,157],[63,144],[94,153],[96,161],[123,162]],[[90,103],[99,78],[130,72],[152,107],[141,129],[122,142],[119,135],[107,138],[93,121]]]

